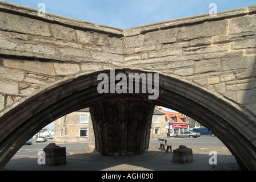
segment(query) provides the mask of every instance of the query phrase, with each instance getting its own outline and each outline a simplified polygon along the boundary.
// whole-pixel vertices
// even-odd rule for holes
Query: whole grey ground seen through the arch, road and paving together
[[[47,142],[33,143],[31,145],[24,145],[20,150],[13,156],[10,162],[6,165],[6,171],[18,170],[18,171],[42,171],[42,170],[145,170],[153,169],[160,171],[177,171],[177,170],[199,170],[199,171],[213,171],[213,170],[235,170],[238,169],[237,163],[233,155],[223,147],[223,143],[217,137],[200,137],[200,138],[167,138],[169,143],[171,143],[174,148],[177,148],[179,145],[183,144],[193,148],[193,163],[187,164],[177,164],[171,163],[172,155],[170,153],[159,152],[158,147],[158,138],[150,139],[151,153],[150,155],[145,155],[143,157],[148,157],[149,160],[141,159],[141,156],[136,156],[137,160],[134,160],[135,157],[127,158],[129,159],[126,162],[116,161],[113,162],[113,158],[101,158],[97,156],[97,160],[87,160],[89,157],[86,155],[70,155],[69,163],[60,166],[46,166],[38,165],[39,155],[38,152],[42,151],[47,144],[54,142],[49,140]],[[80,151],[88,148],[88,143],[56,143],[58,146],[66,147],[66,152],[71,151]],[[156,147],[154,147],[156,146]],[[205,146],[205,147],[203,147]],[[207,147],[209,146],[209,147]],[[173,149],[174,149],[173,148]],[[216,151],[218,153],[218,165],[214,167],[209,163],[209,151]],[[161,154],[161,155],[159,155]],[[155,157],[154,155],[157,155]],[[73,157],[73,158],[72,158]],[[99,159],[100,160],[99,160]],[[136,158],[136,159],[137,159]],[[73,160],[72,160],[73,159]],[[106,160],[106,159],[109,159]],[[106,161],[105,161],[106,160]],[[104,161],[104,162],[102,162]],[[100,163],[99,163],[100,162]]]

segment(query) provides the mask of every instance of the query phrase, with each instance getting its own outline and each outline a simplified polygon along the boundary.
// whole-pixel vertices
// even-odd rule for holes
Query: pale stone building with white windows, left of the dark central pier
[[[64,115],[54,121],[54,141],[84,142],[94,139],[89,107]]]

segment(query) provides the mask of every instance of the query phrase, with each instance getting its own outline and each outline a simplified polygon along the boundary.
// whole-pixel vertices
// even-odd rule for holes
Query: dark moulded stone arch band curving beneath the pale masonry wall
[[[157,100],[147,100],[147,94],[99,94],[97,76],[102,72],[109,74],[109,70],[102,70],[57,82],[5,111],[0,118],[0,169],[27,139],[55,119],[82,107],[122,98],[169,107],[189,115],[222,140],[242,169],[256,169],[256,147],[251,138],[255,136],[255,116],[249,111],[210,90],[166,74],[159,75]],[[147,73],[116,70],[126,74],[142,72]]]

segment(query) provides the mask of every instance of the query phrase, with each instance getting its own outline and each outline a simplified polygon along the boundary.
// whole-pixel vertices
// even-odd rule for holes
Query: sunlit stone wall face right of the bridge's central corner
[[[255,7],[128,28],[125,65],[191,81],[256,114]]]

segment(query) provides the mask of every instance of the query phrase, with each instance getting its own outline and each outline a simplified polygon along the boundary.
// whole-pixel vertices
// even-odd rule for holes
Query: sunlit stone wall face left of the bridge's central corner
[[[38,18],[36,10],[7,2],[0,3],[0,16],[0,111],[63,78],[123,61],[118,28]]]

